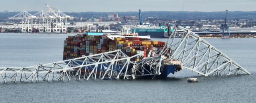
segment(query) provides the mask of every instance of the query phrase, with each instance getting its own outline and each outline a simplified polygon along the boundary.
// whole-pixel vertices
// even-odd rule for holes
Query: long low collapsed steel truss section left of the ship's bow
[[[24,68],[0,68],[0,82],[37,82],[70,81],[72,78],[80,80],[92,79],[119,79],[131,78],[128,67],[131,58],[120,50],[58,61],[48,64],[39,64]],[[132,64],[133,65],[133,64]]]

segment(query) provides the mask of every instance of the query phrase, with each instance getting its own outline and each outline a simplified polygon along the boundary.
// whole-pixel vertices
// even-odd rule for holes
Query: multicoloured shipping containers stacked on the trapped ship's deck
[[[157,52],[164,45],[165,42],[152,41],[147,38],[126,37],[111,40],[105,35],[77,34],[75,36],[68,36],[64,40],[63,60],[119,49],[129,57],[143,53],[131,60],[139,61],[144,57],[156,56]]]

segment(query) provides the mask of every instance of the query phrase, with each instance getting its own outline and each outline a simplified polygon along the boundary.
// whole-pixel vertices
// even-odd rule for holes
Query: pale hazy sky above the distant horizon
[[[0,11],[256,11],[256,0],[0,0]]]

